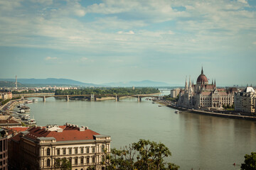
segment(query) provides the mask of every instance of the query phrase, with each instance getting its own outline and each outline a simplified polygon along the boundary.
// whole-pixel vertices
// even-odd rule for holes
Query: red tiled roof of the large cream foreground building
[[[100,135],[92,130],[80,131],[79,128],[72,126],[59,126],[63,132],[48,131],[46,128],[33,127],[28,129],[29,133],[26,137],[35,140],[37,137],[54,137],[57,141],[68,140],[93,140],[93,135]]]

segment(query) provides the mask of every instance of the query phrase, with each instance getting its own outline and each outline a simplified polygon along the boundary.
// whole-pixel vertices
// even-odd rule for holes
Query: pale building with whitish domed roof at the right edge
[[[235,111],[255,113],[256,93],[252,86],[247,86],[244,91],[235,93]]]

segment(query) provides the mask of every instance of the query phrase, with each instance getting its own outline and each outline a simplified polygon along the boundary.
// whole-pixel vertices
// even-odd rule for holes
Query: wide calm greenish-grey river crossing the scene
[[[240,169],[244,155],[256,152],[256,124],[249,120],[174,113],[151,101],[65,101],[38,98],[28,104],[37,125],[73,123],[112,137],[112,148],[139,139],[162,142],[168,162],[185,169]],[[233,166],[233,164],[237,166]]]

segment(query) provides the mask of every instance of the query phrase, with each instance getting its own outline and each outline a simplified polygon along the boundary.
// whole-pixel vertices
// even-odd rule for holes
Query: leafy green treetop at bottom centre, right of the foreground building
[[[137,157],[134,156],[137,154]],[[149,140],[139,140],[137,143],[123,149],[111,149],[111,154],[105,152],[102,166],[106,170],[112,169],[147,169],[147,170],[178,170],[176,164],[164,162],[171,152],[164,144],[157,144]],[[111,163],[110,163],[111,162]]]

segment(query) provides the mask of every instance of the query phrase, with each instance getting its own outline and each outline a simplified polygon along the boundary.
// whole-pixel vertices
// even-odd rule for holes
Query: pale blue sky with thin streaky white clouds
[[[256,85],[255,0],[0,0],[0,78]]]

